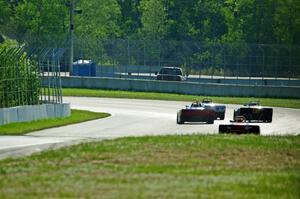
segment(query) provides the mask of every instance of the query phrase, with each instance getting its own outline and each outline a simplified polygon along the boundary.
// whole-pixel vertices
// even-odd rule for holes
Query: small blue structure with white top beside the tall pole
[[[72,67],[72,76],[96,76],[96,63],[91,60],[78,60]]]

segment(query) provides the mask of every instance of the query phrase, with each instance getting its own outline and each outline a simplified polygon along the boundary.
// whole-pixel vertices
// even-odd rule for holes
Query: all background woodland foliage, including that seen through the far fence
[[[191,74],[298,77],[298,0],[72,1],[82,10],[75,14],[75,60],[110,66],[170,64]],[[70,2],[0,0],[0,42],[2,34],[30,47],[67,44]],[[237,63],[250,64],[234,74]]]

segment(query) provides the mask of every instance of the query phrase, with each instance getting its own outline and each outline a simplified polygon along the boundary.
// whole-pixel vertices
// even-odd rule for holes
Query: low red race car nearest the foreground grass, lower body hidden
[[[260,134],[260,127],[246,123],[244,116],[237,116],[231,124],[220,124],[219,133]]]

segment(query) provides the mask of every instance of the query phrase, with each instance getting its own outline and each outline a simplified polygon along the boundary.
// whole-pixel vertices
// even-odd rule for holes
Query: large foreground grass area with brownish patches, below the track
[[[300,136],[158,136],[0,161],[0,198],[299,198]]]

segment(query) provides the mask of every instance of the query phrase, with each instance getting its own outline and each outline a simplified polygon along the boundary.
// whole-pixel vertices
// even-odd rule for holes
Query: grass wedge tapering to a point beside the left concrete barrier
[[[22,135],[46,128],[65,126],[79,122],[108,117],[108,113],[95,113],[82,110],[71,110],[71,116],[65,118],[18,122],[0,126],[0,135]]]

